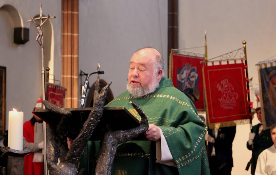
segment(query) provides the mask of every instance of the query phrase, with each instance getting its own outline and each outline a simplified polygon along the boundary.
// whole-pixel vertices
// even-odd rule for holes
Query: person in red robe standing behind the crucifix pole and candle
[[[42,98],[39,98],[33,111],[42,107]],[[23,147],[28,147],[31,152],[24,156],[24,175],[42,175],[44,172],[43,121],[36,115],[23,125]]]

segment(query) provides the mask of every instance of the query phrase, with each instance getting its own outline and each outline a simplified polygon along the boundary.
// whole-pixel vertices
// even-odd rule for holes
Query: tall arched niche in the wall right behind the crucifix
[[[45,16],[45,15],[42,15]],[[37,18],[39,15],[34,16],[33,18]],[[43,19],[44,21],[45,19]],[[37,24],[40,24],[40,20],[35,21]],[[30,27],[34,27],[34,22],[30,22]],[[46,67],[50,68],[49,71],[49,82],[54,83],[53,75],[54,75],[54,49],[55,49],[55,43],[54,43],[54,31],[53,31],[53,24],[52,22],[48,19],[43,25],[42,25],[42,30],[43,30],[43,51],[44,51],[44,67],[45,67],[45,72],[46,72]],[[37,30],[36,30],[37,31]],[[38,31],[37,31],[38,33]],[[36,36],[36,35],[35,35]],[[35,40],[36,38],[31,38],[31,40]],[[39,44],[38,49],[40,49]]]

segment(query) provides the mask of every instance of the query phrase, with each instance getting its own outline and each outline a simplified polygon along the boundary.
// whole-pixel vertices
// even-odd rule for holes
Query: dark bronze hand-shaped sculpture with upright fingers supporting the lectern
[[[71,112],[65,108],[59,108],[49,103],[48,101],[42,101],[46,109],[53,113],[62,115],[62,118],[57,125],[47,126],[47,146],[46,146],[46,158],[49,173],[52,175],[58,174],[82,174],[83,171],[78,172],[78,162],[83,155],[85,146],[88,143],[93,131],[99,123],[103,109],[104,101],[106,98],[106,92],[111,82],[109,82],[99,93],[98,98],[94,101],[93,108],[85,121],[77,138],[72,142],[70,149],[67,147],[67,134],[68,134],[68,119],[71,117]],[[137,135],[147,131],[149,123],[146,115],[142,109],[131,102],[133,108],[137,110],[141,116],[140,126],[125,131],[113,131],[107,132],[104,135],[104,142],[101,148],[99,159],[95,174],[111,174],[111,168],[116,153],[117,145],[119,143],[126,142]],[[60,157],[60,163],[57,164]]]

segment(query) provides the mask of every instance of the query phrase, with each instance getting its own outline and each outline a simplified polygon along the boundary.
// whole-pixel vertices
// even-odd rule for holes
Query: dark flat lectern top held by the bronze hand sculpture
[[[92,108],[68,108],[72,116],[69,117],[68,136],[73,140],[78,136],[84,122],[88,118]],[[57,126],[61,115],[47,109],[36,109],[33,112],[49,125]],[[102,118],[95,128],[90,140],[103,140],[107,131],[127,130],[139,126],[139,120],[124,107],[104,107]],[[144,134],[140,134],[133,140],[146,140]]]

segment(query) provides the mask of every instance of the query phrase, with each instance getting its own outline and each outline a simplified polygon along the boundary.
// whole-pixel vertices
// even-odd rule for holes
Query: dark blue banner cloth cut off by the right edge
[[[262,122],[265,128],[276,123],[276,66],[259,69]]]

